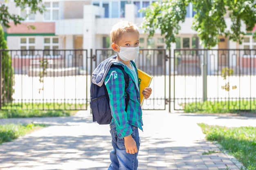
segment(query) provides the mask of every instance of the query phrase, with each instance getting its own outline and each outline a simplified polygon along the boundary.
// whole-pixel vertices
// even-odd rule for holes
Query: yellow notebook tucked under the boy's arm
[[[137,68],[138,70],[138,77],[139,77],[139,93],[140,93],[140,105],[142,106],[143,101],[145,99],[145,97],[142,94],[142,91],[146,88],[149,87],[153,76],[149,75],[148,73],[145,73],[144,71],[141,71],[139,68]]]

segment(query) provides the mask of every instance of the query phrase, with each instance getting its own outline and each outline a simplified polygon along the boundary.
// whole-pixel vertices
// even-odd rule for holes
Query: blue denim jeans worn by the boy
[[[115,123],[110,124],[110,133],[112,136],[113,150],[110,152],[110,166],[108,170],[137,170],[138,168],[138,152],[140,146],[138,128],[132,126],[132,138],[135,140],[138,152],[135,154],[126,153],[124,146],[124,138],[117,137]]]

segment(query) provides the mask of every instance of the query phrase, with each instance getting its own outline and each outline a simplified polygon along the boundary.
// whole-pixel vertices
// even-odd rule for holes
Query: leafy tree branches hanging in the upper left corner
[[[5,2],[9,2],[9,0],[5,0]],[[16,7],[20,7],[21,10],[30,7],[30,13],[43,13],[45,11],[42,0],[14,0],[14,3]],[[9,21],[13,21],[14,24],[17,25],[23,20],[25,20],[25,18],[20,17],[20,15],[9,13],[9,7],[6,4],[2,3],[0,5],[0,21],[3,26],[9,28]],[[33,26],[29,27],[33,29]]]

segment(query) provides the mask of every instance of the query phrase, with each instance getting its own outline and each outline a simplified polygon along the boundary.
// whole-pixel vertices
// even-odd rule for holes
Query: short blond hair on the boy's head
[[[110,38],[113,43],[117,43],[124,33],[137,32],[139,28],[129,21],[119,21],[112,27],[110,31]]]

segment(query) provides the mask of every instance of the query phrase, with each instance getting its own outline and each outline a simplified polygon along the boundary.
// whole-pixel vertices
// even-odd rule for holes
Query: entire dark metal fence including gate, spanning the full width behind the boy
[[[87,110],[91,73],[112,55],[112,49],[1,50],[0,109]],[[193,103],[203,110],[204,101],[223,107],[228,101],[236,110],[256,106],[256,50],[140,49],[135,63],[153,75],[143,109],[184,110]],[[224,79],[223,70],[232,74]],[[222,89],[227,83],[229,91]]]

